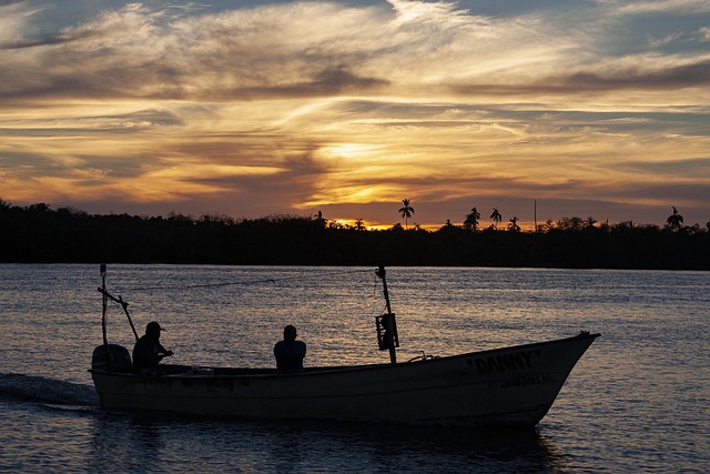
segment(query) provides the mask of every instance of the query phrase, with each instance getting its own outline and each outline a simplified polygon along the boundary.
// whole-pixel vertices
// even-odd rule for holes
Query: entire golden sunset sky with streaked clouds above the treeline
[[[710,221],[710,2],[0,0],[0,199]]]

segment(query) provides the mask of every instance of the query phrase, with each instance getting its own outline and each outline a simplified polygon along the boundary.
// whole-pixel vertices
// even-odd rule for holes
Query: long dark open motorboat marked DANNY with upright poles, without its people
[[[160,376],[136,374],[125,347],[109,344],[105,306],[115,301],[131,322],[128,303],[105,289],[104,343],[90,370],[100,404],[109,410],[149,410],[260,420],[336,420],[416,425],[534,426],[549,411],[577,361],[600,334],[396,361],[398,337],[385,269],[386,313],[376,316],[381,350],[389,363],[276,369],[196,367],[163,364]],[[135,329],[131,322],[135,334]],[[138,334],[135,334],[138,339]]]

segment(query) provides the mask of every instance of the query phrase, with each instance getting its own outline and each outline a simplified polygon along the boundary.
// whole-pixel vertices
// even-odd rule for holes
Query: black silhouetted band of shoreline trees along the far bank
[[[436,231],[367,230],[321,214],[100,215],[0,200],[0,262],[710,270],[710,222],[562,218],[537,232],[448,222]]]

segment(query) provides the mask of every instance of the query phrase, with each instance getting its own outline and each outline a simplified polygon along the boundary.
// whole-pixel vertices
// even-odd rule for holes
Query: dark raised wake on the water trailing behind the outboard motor
[[[99,405],[92,386],[23,374],[0,373],[0,397],[59,405]]]

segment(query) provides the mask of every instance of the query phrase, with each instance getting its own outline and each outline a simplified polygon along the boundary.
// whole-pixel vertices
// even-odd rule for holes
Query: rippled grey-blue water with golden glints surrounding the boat
[[[400,361],[600,332],[530,431],[207,420],[97,406],[98,265],[0,265],[0,472],[709,472],[710,273],[388,269]],[[220,285],[221,283],[231,283]],[[374,269],[110,265],[173,362],[386,362]],[[120,306],[109,341],[132,346]]]

